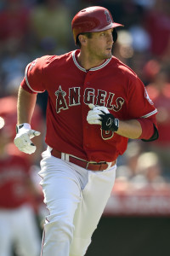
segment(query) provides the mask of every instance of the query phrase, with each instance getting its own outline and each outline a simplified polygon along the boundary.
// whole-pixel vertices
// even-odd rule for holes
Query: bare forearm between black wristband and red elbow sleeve
[[[127,121],[119,121],[119,129],[117,134],[131,139],[139,138],[142,134],[142,127],[138,120],[131,119]]]

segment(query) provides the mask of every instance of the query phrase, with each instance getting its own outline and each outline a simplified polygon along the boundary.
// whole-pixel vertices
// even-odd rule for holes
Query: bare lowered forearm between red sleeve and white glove
[[[17,125],[31,124],[31,116],[37,101],[37,94],[31,94],[20,87],[17,102]]]

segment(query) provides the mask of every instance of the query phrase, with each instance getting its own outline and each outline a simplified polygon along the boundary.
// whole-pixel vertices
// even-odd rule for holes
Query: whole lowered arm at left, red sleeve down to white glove
[[[37,101],[37,92],[42,92],[42,63],[43,59],[32,61],[26,67],[26,75],[20,84],[17,102],[17,125],[14,144],[20,151],[32,154],[36,146],[31,138],[40,135],[39,131],[31,129],[31,117]]]

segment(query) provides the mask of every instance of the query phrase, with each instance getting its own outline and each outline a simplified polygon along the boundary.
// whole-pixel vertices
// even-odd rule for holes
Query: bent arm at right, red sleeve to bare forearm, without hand
[[[123,137],[142,139],[146,142],[158,138],[157,110],[150,100],[144,84],[136,75],[129,84],[127,112],[131,118],[120,120],[117,134]]]

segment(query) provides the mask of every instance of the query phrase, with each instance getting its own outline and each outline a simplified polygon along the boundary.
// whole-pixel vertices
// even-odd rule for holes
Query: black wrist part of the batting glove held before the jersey
[[[101,117],[101,127],[105,131],[117,131],[119,129],[119,119],[116,119],[111,113],[99,114]]]

